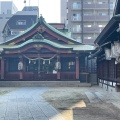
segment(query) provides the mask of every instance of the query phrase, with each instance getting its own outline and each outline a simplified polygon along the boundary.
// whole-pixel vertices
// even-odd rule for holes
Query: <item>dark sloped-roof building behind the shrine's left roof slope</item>
[[[3,27],[1,42],[24,32],[38,21],[39,8],[37,6],[25,6],[22,11],[16,12]]]

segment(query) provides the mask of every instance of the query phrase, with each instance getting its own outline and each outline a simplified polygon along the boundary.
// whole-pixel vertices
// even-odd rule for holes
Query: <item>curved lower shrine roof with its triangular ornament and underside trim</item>
[[[28,47],[27,47],[28,46]],[[74,52],[74,51],[92,51],[94,50],[94,46],[91,45],[82,45],[82,44],[60,44],[56,43],[47,39],[44,39],[44,37],[37,33],[34,35],[34,37],[28,41],[25,41],[19,45],[0,45],[0,51],[14,51],[14,53],[19,53],[19,51],[24,51],[26,48],[53,48],[54,51],[56,50],[62,50],[62,52]]]

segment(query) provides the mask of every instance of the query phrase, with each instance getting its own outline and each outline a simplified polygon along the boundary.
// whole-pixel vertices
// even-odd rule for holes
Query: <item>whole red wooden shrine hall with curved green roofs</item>
[[[80,80],[88,72],[83,45],[47,24],[41,16],[24,33],[0,44],[1,80]]]

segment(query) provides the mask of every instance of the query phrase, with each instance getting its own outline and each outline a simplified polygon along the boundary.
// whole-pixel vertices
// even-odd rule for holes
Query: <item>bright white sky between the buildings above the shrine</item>
[[[25,6],[24,0],[0,0],[0,1],[13,1],[19,11]],[[26,5],[38,6],[40,14],[49,23],[60,22],[60,0],[26,0]],[[39,2],[38,2],[39,1]]]

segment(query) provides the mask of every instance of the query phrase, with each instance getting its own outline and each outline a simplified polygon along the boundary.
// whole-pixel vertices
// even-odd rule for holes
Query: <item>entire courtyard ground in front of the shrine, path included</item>
[[[0,120],[120,120],[120,93],[99,87],[21,87],[0,91]]]

